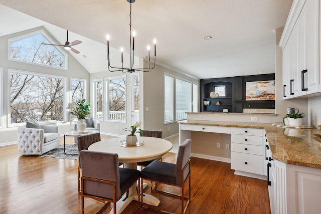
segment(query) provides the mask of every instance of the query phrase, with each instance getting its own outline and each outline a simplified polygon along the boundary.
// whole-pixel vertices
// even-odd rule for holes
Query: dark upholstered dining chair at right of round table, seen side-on
[[[152,161],[148,166],[146,166],[140,172],[140,182],[143,183],[143,180],[150,180],[155,182],[155,191],[163,192],[170,195],[174,195],[181,198],[182,202],[182,214],[186,212],[186,209],[190,203],[191,198],[191,147],[192,140],[185,140],[179,147],[179,151],[177,154],[176,164],[162,162],[158,160]],[[189,197],[184,196],[184,186],[185,183],[189,180]],[[157,183],[164,183],[168,185],[178,186],[181,188],[181,194],[174,194],[170,192],[165,192],[157,189]],[[143,206],[143,189],[141,188],[141,205],[142,208],[146,208]],[[184,200],[187,200],[186,205],[184,206]],[[148,209],[153,209],[148,207]],[[167,212],[165,210],[157,210]],[[171,213],[171,212],[167,212]]]

